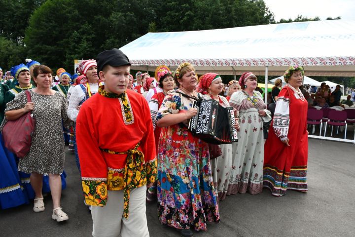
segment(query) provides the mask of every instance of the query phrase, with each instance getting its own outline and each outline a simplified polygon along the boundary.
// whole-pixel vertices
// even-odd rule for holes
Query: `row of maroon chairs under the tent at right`
[[[312,133],[315,133],[316,125],[320,125],[320,136],[322,131],[322,125],[325,122],[324,129],[324,137],[326,134],[327,125],[332,126],[331,136],[333,135],[333,127],[337,126],[337,134],[339,132],[340,126],[345,126],[345,135],[344,139],[346,139],[346,133],[348,124],[355,125],[355,110],[345,109],[343,111],[338,111],[330,108],[314,110],[309,109],[307,113],[307,124],[313,125]],[[354,134],[355,140],[355,134]]]

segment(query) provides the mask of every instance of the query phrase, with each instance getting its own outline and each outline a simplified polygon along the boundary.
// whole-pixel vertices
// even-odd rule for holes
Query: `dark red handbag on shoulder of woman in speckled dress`
[[[26,90],[27,101],[31,102],[31,94]],[[18,158],[24,158],[30,151],[32,132],[35,129],[35,118],[28,112],[15,120],[7,120],[2,128],[5,147]]]

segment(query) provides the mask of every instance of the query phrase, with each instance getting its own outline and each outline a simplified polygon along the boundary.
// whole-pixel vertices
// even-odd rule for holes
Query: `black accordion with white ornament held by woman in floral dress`
[[[190,119],[188,129],[195,136],[211,144],[237,142],[233,107],[223,107],[213,99],[194,101],[197,115]]]

